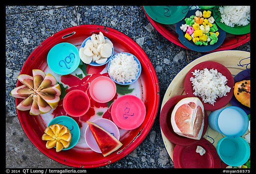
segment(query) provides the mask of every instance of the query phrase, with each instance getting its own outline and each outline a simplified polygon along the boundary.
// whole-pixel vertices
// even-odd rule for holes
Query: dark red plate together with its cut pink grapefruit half
[[[206,111],[204,111],[204,122],[203,123],[200,122],[199,124],[197,122],[197,124],[195,124],[195,126],[192,128],[187,127],[188,123],[189,122],[191,123],[191,121],[193,120],[193,118],[191,116],[192,114],[190,114],[190,116],[184,116],[185,114],[183,114],[183,116],[181,116],[180,118],[177,117],[176,120],[175,120],[175,115],[172,116],[172,113],[176,113],[173,111],[174,107],[176,107],[176,104],[178,104],[180,101],[181,101],[180,104],[182,104],[182,103],[184,103],[184,104],[182,104],[180,107],[176,107],[176,108],[179,108],[179,110],[181,112],[182,112],[182,110],[185,110],[184,113],[188,113],[188,112],[192,111],[193,109],[190,107],[190,105],[195,104],[195,101],[197,101],[197,103],[201,102],[201,101],[199,102],[195,98],[187,97],[186,95],[178,95],[178,96],[172,97],[164,104],[164,106],[161,110],[161,113],[160,113],[161,130],[162,130],[163,134],[167,137],[167,139],[169,141],[175,143],[176,145],[180,145],[180,146],[192,145],[192,144],[198,142],[200,139],[203,139],[203,135],[205,134],[205,132],[207,130],[208,115],[207,115]],[[193,100],[191,100],[191,99],[193,99]],[[186,102],[186,101],[189,101],[189,102]],[[193,102],[190,102],[190,101],[193,101]],[[202,105],[201,105],[201,107],[203,108]],[[196,114],[193,114],[193,115],[195,116]],[[200,115],[200,116],[202,116],[202,115]],[[188,119],[188,117],[191,119]],[[194,120],[196,120],[196,119],[194,119]],[[172,124],[174,124],[174,126],[172,126]],[[181,129],[177,128],[178,127],[177,125],[179,125],[179,127]],[[191,134],[193,134],[194,131],[195,132],[198,130],[201,131],[202,125],[204,125],[202,134],[201,135],[198,134],[199,136],[197,136],[197,138],[187,136],[187,135],[184,135],[181,133],[181,130],[183,132],[186,130],[187,132],[190,131],[190,135],[191,135]]]

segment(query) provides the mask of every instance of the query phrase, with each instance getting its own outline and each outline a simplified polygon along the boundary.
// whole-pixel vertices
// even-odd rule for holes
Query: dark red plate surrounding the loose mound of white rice
[[[226,93],[226,96],[223,97],[217,97],[216,102],[213,104],[205,103],[203,99],[199,96],[195,96],[192,82],[190,81],[190,78],[194,75],[192,72],[195,72],[195,70],[203,70],[204,68],[210,69],[216,69],[219,73],[221,73],[223,76],[227,78],[227,86],[229,86],[231,89],[228,93]],[[234,79],[231,74],[231,72],[228,70],[227,67],[223,66],[222,64],[214,61],[205,61],[200,62],[196,66],[193,66],[187,73],[184,81],[184,90],[187,97],[198,97],[202,103],[204,104],[204,110],[206,111],[214,111],[219,108],[224,107],[228,102],[231,100],[233,93],[234,93]]]

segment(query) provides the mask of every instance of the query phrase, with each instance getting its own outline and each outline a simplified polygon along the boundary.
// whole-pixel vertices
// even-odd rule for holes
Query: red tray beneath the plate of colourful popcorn
[[[144,10],[144,7],[142,7]],[[149,22],[152,24],[152,26],[158,31],[161,35],[163,35],[166,39],[171,41],[172,43],[181,46],[182,48],[190,50],[188,47],[184,46],[180,40],[179,35],[176,33],[175,28],[176,24],[172,25],[165,25],[162,23],[158,23],[154,21],[149,15],[145,12],[146,17],[148,18]],[[247,43],[251,39],[251,33],[247,33],[244,35],[232,35],[227,33],[226,38],[224,39],[224,42],[215,50],[209,51],[209,52],[215,52],[220,50],[231,50],[233,48],[236,48],[237,46],[241,46],[244,43]]]

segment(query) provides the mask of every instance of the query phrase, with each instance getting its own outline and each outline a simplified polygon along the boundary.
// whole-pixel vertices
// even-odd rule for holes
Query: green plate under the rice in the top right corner
[[[246,26],[237,26],[234,27],[227,26],[225,23],[220,22],[220,6],[215,6],[213,8],[213,18],[215,19],[216,24],[227,33],[233,34],[233,35],[244,35],[247,33],[250,33],[251,31],[251,23],[248,23]]]

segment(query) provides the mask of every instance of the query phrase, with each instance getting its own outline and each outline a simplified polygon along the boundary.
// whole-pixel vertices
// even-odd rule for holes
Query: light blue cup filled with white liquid
[[[208,125],[225,136],[236,138],[244,135],[247,131],[249,119],[243,109],[228,106],[210,113]]]

